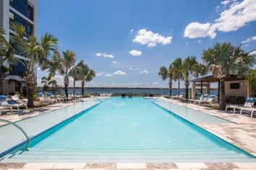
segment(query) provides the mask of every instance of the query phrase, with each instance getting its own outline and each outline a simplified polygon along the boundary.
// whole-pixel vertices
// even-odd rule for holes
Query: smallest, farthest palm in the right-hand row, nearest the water
[[[166,68],[166,66],[161,66],[158,75],[161,76],[161,79],[165,81],[166,79],[169,80],[169,94],[172,94],[172,81],[174,79],[174,69],[172,68],[171,64],[169,68]]]

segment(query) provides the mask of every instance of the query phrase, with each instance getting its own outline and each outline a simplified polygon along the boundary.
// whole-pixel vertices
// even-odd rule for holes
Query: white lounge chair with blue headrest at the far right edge
[[[236,112],[236,109],[240,109],[240,115],[242,115],[243,111],[247,111],[247,112],[251,112],[251,117],[253,116],[253,112],[256,111],[256,108],[254,107],[254,104],[256,102],[256,98],[255,97],[248,97],[245,100],[245,103],[243,106],[241,105],[227,105],[226,106],[226,111],[228,109],[233,109],[234,113]]]

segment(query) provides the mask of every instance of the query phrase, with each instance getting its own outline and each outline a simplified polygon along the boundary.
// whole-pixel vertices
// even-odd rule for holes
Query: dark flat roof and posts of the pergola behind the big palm
[[[245,80],[244,77],[239,77],[234,74],[227,75],[224,78],[225,81],[239,81],[239,80]],[[205,77],[200,77],[197,79],[192,79],[190,82],[195,84],[194,86],[199,86],[201,87],[200,93],[202,94],[202,86],[207,86],[208,91],[210,92],[210,83],[218,83],[218,102],[220,102],[220,79],[215,78],[213,76],[205,76]],[[200,84],[196,84],[200,83]]]

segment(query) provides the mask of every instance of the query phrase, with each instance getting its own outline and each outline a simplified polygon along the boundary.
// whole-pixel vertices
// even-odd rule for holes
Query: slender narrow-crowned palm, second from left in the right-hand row
[[[174,68],[174,81],[178,81],[178,94],[180,93],[180,81],[182,81],[182,58],[176,58],[171,63]]]

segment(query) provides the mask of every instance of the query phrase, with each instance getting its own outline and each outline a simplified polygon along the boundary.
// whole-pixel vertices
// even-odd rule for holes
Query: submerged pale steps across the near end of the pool
[[[234,151],[222,148],[170,150],[78,150],[30,148],[4,156],[0,162],[253,162]]]

